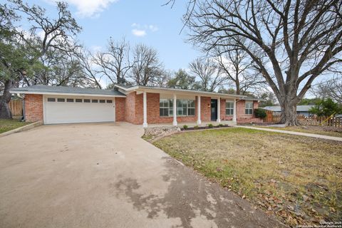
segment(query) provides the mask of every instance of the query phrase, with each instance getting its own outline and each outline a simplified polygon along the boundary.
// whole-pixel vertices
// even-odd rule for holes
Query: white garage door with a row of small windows
[[[44,97],[44,123],[115,121],[114,98]]]

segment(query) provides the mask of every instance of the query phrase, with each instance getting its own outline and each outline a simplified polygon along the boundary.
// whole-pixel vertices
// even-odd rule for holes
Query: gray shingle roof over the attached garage
[[[125,94],[120,93],[118,90],[102,90],[96,88],[76,88],[69,86],[27,86],[22,88],[12,88],[11,93],[76,93],[76,94],[87,94],[87,95],[118,95],[125,96]]]

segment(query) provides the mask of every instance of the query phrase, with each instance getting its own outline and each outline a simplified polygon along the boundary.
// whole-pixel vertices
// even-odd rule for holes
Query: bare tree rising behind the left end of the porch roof
[[[163,75],[157,51],[153,48],[138,44],[133,50],[134,64],[130,78],[137,85],[155,86],[157,79]]]

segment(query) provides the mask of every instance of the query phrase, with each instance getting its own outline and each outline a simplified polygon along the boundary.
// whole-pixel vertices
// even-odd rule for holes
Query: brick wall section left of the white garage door
[[[43,120],[43,95],[26,94],[24,99],[26,122]]]

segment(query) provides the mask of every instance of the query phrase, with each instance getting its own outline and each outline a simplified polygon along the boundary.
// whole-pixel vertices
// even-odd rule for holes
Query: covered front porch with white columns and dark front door
[[[194,126],[207,126],[208,124],[218,125],[236,125],[237,123],[237,95],[209,95],[204,94],[199,95],[201,92],[192,91],[191,94],[183,93],[153,93],[152,91],[141,91],[142,93],[142,118],[143,128],[157,127],[157,126],[183,126],[188,127]],[[153,91],[155,92],[155,91]],[[138,93],[137,93],[138,94]],[[152,101],[151,101],[152,99]],[[189,99],[188,115],[180,115],[184,107],[180,107],[181,101],[184,99]],[[163,105],[163,100],[166,101],[167,105]],[[159,101],[159,107],[155,107],[156,101]],[[229,103],[226,105],[226,102]],[[183,103],[184,104],[184,103]],[[228,107],[229,106],[229,107]],[[166,110],[165,110],[166,107]],[[160,111],[158,114],[155,111],[158,108]],[[190,108],[192,109],[190,111]],[[186,109],[185,109],[186,110]],[[166,111],[166,112],[165,112]],[[164,116],[166,113],[167,116]],[[191,113],[191,115],[190,115]],[[158,116],[156,116],[158,115]]]

